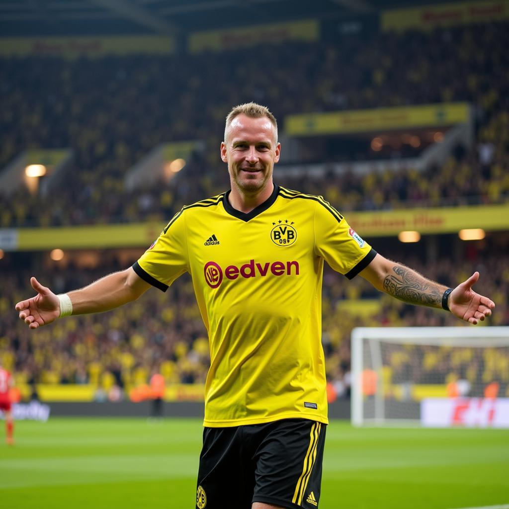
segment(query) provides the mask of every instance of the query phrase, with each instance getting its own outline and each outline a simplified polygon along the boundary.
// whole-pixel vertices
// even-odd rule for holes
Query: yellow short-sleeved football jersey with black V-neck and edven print
[[[327,423],[323,262],[352,278],[376,251],[321,196],[274,186],[244,214],[229,193],[184,207],[133,268],[163,291],[192,276],[210,343],[205,426]]]

